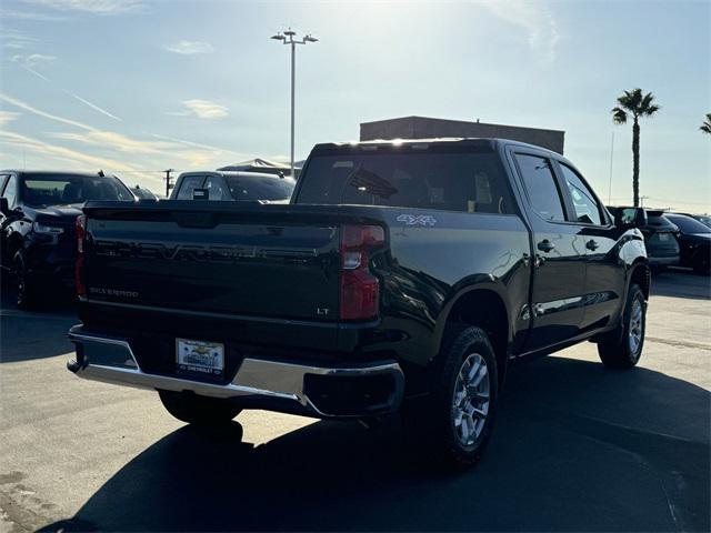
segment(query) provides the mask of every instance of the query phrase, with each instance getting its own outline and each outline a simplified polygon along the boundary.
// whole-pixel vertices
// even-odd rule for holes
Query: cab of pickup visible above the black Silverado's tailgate
[[[186,172],[178,177],[171,200],[262,201],[286,203],[296,181],[260,172]]]

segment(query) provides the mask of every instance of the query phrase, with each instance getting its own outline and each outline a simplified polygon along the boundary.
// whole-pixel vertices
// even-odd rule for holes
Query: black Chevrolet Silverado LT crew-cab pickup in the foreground
[[[83,211],[69,369],[156,390],[189,423],[402,411],[468,465],[510,364],[593,341],[629,369],[644,342],[634,217],[614,221],[568,160],[528,144],[319,144],[290,204]]]

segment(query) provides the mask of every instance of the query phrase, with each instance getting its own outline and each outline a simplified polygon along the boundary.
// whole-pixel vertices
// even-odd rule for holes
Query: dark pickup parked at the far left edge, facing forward
[[[74,221],[87,200],[132,203],[129,189],[103,173],[0,171],[1,265],[14,274],[17,304],[32,308],[43,289],[73,286]]]

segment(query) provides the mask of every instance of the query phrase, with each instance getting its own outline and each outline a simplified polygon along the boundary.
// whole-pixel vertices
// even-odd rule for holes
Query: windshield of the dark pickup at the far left
[[[91,175],[31,175],[21,181],[22,201],[33,208],[83,203],[88,200],[133,201],[117,178]]]

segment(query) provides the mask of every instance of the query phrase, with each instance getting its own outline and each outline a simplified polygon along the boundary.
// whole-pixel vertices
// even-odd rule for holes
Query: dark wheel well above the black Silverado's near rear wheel
[[[449,333],[461,324],[481,328],[489,335],[497,355],[499,382],[503,383],[509,352],[509,315],[499,294],[482,289],[462,295],[449,312],[442,342]]]

